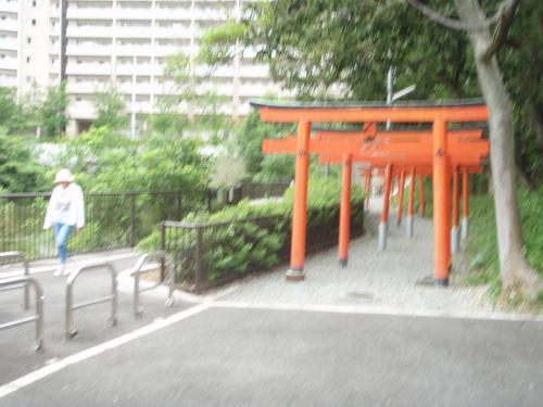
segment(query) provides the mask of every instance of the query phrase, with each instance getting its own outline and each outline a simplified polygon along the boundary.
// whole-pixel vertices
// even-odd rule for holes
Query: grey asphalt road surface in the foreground
[[[4,343],[0,349],[3,371]],[[29,380],[0,406],[539,407],[542,400],[540,321],[218,304]]]

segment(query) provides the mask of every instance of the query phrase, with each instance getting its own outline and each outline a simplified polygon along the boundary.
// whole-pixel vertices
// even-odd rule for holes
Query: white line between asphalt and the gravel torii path
[[[321,305],[321,304],[292,304],[292,303],[265,303],[242,301],[216,301],[211,304],[216,308],[249,308],[272,310],[302,310],[311,313],[336,314],[368,314],[389,315],[403,317],[454,318],[454,319],[488,319],[504,321],[535,321],[543,322],[542,315],[535,314],[507,314],[507,313],[454,313],[450,310],[409,309],[394,307],[378,307],[365,305]]]

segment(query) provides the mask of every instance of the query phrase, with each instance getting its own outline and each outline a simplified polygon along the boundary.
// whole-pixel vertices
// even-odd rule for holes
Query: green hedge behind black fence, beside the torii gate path
[[[314,179],[308,187],[308,246],[336,242],[341,187],[337,181]],[[190,214],[184,221],[201,226],[203,267],[209,282],[265,270],[286,258],[290,242],[293,189],[281,201],[255,204],[242,201],[214,214]],[[362,225],[363,193],[353,188],[352,221]],[[258,219],[258,220],[248,220]],[[319,236],[325,241],[315,241]],[[197,272],[198,228],[171,228],[166,243],[175,256],[178,281],[193,281]],[[156,231],[142,240],[138,249],[151,251],[160,245]]]

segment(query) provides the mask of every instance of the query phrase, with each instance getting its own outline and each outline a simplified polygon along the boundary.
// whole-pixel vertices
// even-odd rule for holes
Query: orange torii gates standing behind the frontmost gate
[[[369,126],[371,127],[371,126]],[[375,126],[374,126],[375,127]],[[319,163],[343,163],[342,175],[342,196],[340,208],[340,228],[339,228],[339,245],[338,257],[340,265],[345,267],[349,259],[349,241],[350,241],[350,218],[351,218],[351,170],[353,162],[362,162],[370,166],[381,166],[387,168],[383,208],[381,222],[379,225],[379,250],[383,251],[387,246],[388,233],[388,217],[389,217],[389,195],[391,189],[391,180],[393,174],[391,171],[391,163],[408,168],[412,174],[412,188],[409,190],[409,206],[407,218],[407,236],[413,237],[413,199],[414,199],[414,178],[415,173],[421,175],[431,174],[431,160],[429,152],[425,154],[425,149],[429,150],[431,144],[429,141],[431,133],[428,131],[386,131],[386,132],[349,132],[349,131],[318,131],[315,137],[310,140],[308,154],[319,154]],[[453,130],[449,140],[449,149],[451,151],[451,160],[454,168],[463,165],[476,166],[482,156],[488,155],[488,140],[480,140],[482,136],[481,129],[469,130]],[[370,141],[366,140],[370,138]],[[295,139],[293,136],[288,136],[283,139],[267,139],[263,141],[263,153],[295,153]],[[456,169],[455,169],[456,171]],[[403,178],[402,178],[403,186]],[[456,186],[456,183],[455,183]],[[403,199],[403,187],[401,189]],[[456,194],[455,194],[456,196]],[[456,203],[456,201],[455,201]],[[455,208],[457,207],[454,205]],[[401,211],[401,209],[400,209]],[[399,211],[399,214],[401,212]],[[453,217],[454,220],[457,217]],[[459,234],[457,233],[457,222],[453,221],[452,228],[452,249],[456,252],[459,245]],[[458,242],[458,243],[456,243]]]

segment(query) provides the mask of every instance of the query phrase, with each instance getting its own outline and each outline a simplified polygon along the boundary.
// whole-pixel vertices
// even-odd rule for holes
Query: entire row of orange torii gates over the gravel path
[[[481,100],[447,103],[409,102],[303,104],[252,102],[263,122],[298,123],[298,135],[264,140],[264,153],[295,154],[292,245],[288,280],[305,277],[306,208],[310,155],[321,164],[342,164],[342,192],[338,257],[342,266],[349,257],[352,165],[362,166],[366,192],[372,174],[383,176],[383,207],[379,225],[379,250],[387,246],[389,200],[393,178],[397,178],[399,202],[403,202],[406,176],[409,176],[407,234],[413,237],[415,179],[432,176],[434,228],[434,284],[446,287],[451,251],[459,245],[459,179],[463,178],[463,230],[468,230],[468,176],[480,173],[489,154],[489,141],[481,128],[450,129],[450,123],[487,122],[488,110]],[[411,124],[409,130],[378,130],[379,123]],[[318,131],[312,137],[312,123],[364,124],[362,130]],[[425,127],[426,124],[426,127]],[[428,128],[431,124],[431,128]],[[414,125],[415,129],[413,129]],[[452,182],[451,182],[452,180]],[[453,194],[451,194],[451,183]],[[424,202],[424,200],[422,200]],[[453,209],[453,211],[452,211]],[[402,216],[399,207],[397,219]]]

